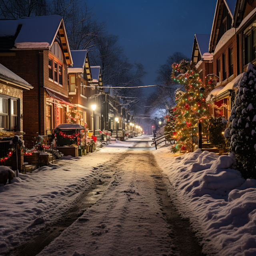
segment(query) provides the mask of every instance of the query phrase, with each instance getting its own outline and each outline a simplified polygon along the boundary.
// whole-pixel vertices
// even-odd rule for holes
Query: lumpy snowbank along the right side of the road
[[[177,207],[202,238],[203,252],[256,255],[256,180],[230,168],[231,156],[208,151],[172,157],[170,147],[155,152],[175,186]]]

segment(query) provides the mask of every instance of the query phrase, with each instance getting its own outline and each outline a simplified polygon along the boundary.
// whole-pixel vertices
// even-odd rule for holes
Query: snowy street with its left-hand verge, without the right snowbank
[[[142,136],[114,142],[1,187],[2,254],[18,246],[7,255],[36,255],[55,236],[38,255],[178,255],[179,247],[202,255],[188,221],[179,220],[170,203],[151,141]],[[76,221],[60,225],[69,223],[69,209],[76,206]],[[176,234],[172,221],[180,221],[187,237]],[[188,246],[180,246],[182,240]]]

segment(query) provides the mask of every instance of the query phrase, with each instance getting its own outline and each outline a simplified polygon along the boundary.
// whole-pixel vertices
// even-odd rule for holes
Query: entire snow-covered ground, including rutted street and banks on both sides
[[[1,186],[0,255],[255,255],[256,180],[231,156],[151,142],[114,141]]]

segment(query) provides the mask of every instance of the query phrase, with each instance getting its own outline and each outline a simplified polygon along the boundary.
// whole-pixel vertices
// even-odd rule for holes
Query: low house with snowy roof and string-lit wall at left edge
[[[0,140],[10,141],[12,137],[18,135],[23,139],[23,92],[32,90],[28,82],[17,76],[0,64]],[[0,143],[0,160],[5,161],[10,142]],[[18,169],[21,170],[23,164],[23,153],[18,150]],[[9,158],[6,165],[16,170],[16,155]]]

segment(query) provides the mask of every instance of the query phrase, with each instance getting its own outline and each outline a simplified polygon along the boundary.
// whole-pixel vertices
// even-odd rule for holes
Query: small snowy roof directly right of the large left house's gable
[[[73,66],[68,67],[68,73],[84,72],[84,64],[86,60],[87,50],[72,50],[70,51],[73,60]]]

